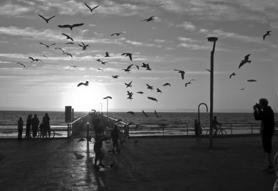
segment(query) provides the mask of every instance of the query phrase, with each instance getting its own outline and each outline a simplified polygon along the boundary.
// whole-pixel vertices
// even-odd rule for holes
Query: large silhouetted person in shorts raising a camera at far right
[[[263,143],[263,150],[268,161],[268,166],[265,167],[263,172],[274,172],[272,166],[272,136],[274,134],[274,113],[270,106],[268,106],[268,100],[261,98],[259,104],[253,106],[255,120],[261,120],[261,138]]]

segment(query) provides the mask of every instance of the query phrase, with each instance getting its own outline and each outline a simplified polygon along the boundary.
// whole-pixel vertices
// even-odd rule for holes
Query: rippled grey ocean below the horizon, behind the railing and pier
[[[17,131],[17,120],[23,118],[24,127],[28,114],[37,114],[40,122],[46,111],[0,111],[0,137],[15,136],[9,135],[9,131]],[[50,117],[51,128],[65,128],[65,112],[64,111],[47,111]],[[80,118],[88,112],[74,112],[74,118]],[[142,112],[131,115],[126,112],[109,112],[108,116],[116,119],[122,119],[123,122],[140,125],[138,129],[131,128],[131,134],[136,136],[161,135],[162,126],[165,135],[190,135],[194,133],[194,120],[198,119],[198,113],[176,113],[161,112],[157,113],[160,118],[156,117],[154,112],[146,112],[146,117]],[[106,112],[104,113],[106,114]],[[227,134],[251,134],[259,133],[260,122],[254,120],[253,113],[213,113],[217,116],[218,122],[227,129]],[[277,113],[275,113],[275,121],[277,121]],[[209,113],[199,113],[203,134],[209,127]],[[4,132],[4,133],[3,133]],[[65,136],[65,134],[64,134]]]

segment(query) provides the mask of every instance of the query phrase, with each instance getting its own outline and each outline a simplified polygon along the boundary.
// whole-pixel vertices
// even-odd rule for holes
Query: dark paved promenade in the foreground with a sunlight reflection
[[[0,190],[264,191],[276,179],[261,172],[259,136],[217,138],[213,148],[208,138],[131,138],[113,156],[117,170],[100,172],[93,168],[93,143],[78,140],[0,140]]]

